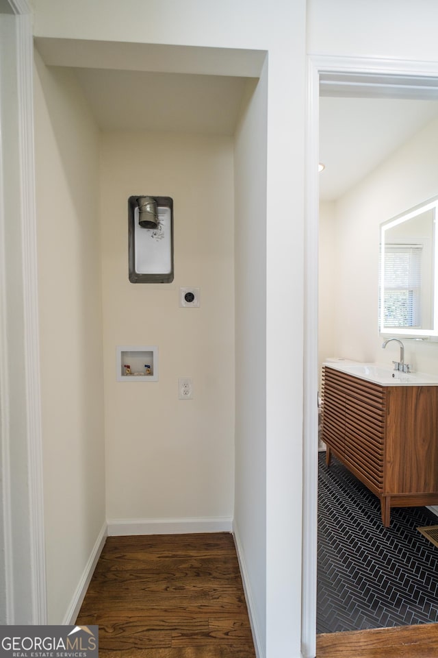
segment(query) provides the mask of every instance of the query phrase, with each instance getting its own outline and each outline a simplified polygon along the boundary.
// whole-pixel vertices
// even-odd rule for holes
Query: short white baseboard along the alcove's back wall
[[[231,533],[231,517],[194,519],[109,519],[108,536],[184,535],[190,533]]]

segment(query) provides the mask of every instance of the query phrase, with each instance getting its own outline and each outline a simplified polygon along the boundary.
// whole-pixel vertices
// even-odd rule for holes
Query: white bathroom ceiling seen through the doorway
[[[437,100],[320,98],[320,198],[334,200],[438,117]]]

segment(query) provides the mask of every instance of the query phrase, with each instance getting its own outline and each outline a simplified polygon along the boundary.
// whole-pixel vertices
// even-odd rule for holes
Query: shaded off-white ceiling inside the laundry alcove
[[[74,69],[102,130],[233,135],[246,77]]]

